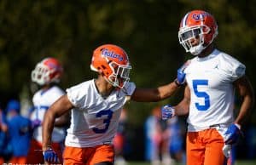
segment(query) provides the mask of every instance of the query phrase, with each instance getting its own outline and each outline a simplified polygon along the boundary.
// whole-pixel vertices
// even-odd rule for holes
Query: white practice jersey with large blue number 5
[[[233,82],[242,77],[245,70],[245,65],[217,49],[205,58],[191,60],[184,71],[191,99],[187,119],[190,132],[234,122]]]

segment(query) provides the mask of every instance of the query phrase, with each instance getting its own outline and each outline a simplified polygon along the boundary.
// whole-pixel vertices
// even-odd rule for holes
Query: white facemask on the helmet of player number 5
[[[191,54],[198,55],[201,54],[201,51],[207,48],[207,46],[212,43],[212,40],[209,43],[205,43],[205,35],[207,35],[211,29],[208,26],[192,26],[192,27],[184,27],[178,31],[178,40],[179,43],[183,45],[186,52],[190,52]],[[197,45],[192,45],[191,39],[199,39]]]

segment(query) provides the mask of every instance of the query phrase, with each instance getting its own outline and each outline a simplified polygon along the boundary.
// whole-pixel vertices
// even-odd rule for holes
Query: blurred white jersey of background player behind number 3
[[[58,100],[63,94],[65,94],[65,92],[57,86],[53,86],[46,91],[43,91],[42,89],[38,90],[32,98],[34,106],[31,114],[31,120],[39,119],[43,122],[44,114],[49,109],[49,106],[52,105],[55,100]],[[65,139],[65,135],[65,128],[55,127],[52,133],[52,142],[61,142]],[[42,126],[34,129],[33,138],[42,142]]]

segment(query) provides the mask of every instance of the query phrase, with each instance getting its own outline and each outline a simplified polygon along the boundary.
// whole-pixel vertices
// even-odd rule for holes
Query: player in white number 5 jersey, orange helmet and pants
[[[223,165],[230,147],[241,135],[241,124],[253,105],[253,89],[246,66],[215,48],[218,26],[212,14],[194,10],[185,14],[179,43],[195,57],[184,70],[186,87],[176,106],[162,107],[162,117],[187,115],[187,164]],[[235,89],[243,99],[234,115]],[[224,152],[223,152],[224,147]]]

